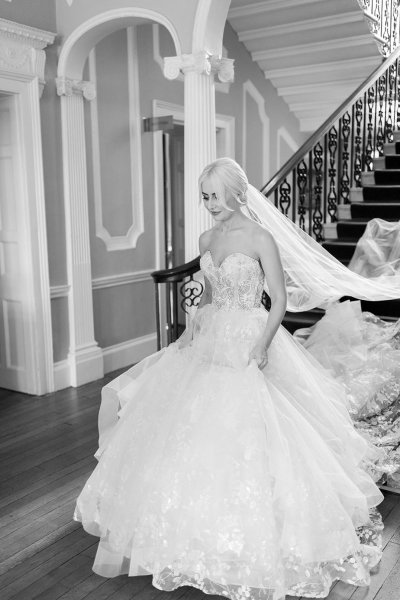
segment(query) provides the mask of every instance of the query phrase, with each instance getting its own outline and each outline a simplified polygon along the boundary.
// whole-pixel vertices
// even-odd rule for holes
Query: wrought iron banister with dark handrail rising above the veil
[[[373,169],[400,128],[400,47],[383,61],[262,188],[317,241],[337,220],[361,173]]]

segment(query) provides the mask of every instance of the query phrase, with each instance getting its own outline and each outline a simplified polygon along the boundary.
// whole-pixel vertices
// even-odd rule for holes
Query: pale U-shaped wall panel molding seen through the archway
[[[127,80],[129,90],[129,143],[132,224],[130,225],[125,235],[111,235],[103,223],[101,148],[97,98],[92,100],[90,104],[96,236],[103,240],[109,252],[114,250],[129,250],[131,248],[135,248],[140,235],[144,232],[142,144],[139,101],[139,65],[136,28],[128,27],[126,33]],[[89,77],[90,80],[96,85],[97,69],[95,48],[89,54]]]

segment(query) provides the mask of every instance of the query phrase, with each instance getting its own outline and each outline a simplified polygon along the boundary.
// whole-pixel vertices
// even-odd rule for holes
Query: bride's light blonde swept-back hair
[[[228,210],[226,204],[226,192],[230,192],[239,204],[246,204],[246,192],[249,185],[246,173],[242,167],[232,158],[218,158],[207,165],[199,177],[199,193],[202,194],[201,185],[210,180],[216,190],[217,198]]]

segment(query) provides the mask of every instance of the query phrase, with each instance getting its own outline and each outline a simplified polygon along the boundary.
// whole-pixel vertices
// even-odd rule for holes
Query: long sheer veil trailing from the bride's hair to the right
[[[285,272],[288,310],[324,308],[343,296],[361,300],[400,298],[400,273],[366,278],[342,265],[317,241],[249,185],[242,212],[265,227],[276,241]],[[268,293],[267,285],[264,286]]]

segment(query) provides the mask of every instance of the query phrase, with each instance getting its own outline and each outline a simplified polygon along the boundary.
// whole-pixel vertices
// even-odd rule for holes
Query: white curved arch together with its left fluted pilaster
[[[145,21],[158,22],[166,27],[176,52],[181,52],[176,29],[167,17],[144,8],[129,7],[101,13],[82,23],[66,40],[60,54],[57,89],[61,96],[69,278],[68,366],[73,386],[93,381],[104,374],[103,351],[94,331],[84,119],[84,101],[93,100],[96,90],[93,82],[82,79],[83,68],[91,49],[100,40],[119,29],[134,27]]]

